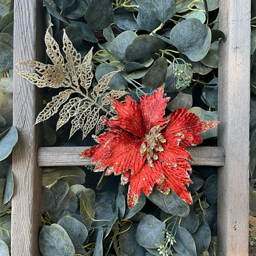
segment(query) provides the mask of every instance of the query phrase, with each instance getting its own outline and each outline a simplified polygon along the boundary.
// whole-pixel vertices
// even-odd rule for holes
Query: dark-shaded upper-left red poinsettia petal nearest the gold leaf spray
[[[125,104],[118,102],[115,99],[112,100],[118,116],[115,117],[115,119],[109,119],[107,123],[108,126],[110,128],[120,127],[137,137],[143,138],[144,129],[142,125],[142,116],[137,102],[129,96],[126,97]]]

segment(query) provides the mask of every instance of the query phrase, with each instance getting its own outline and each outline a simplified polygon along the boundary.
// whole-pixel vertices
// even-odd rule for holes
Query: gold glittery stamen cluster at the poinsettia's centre
[[[160,143],[166,142],[160,131],[160,125],[152,127],[140,146],[140,155],[144,156],[146,152],[146,159],[148,160],[148,165],[150,165],[150,167],[154,167],[153,160],[158,160],[158,154],[155,154],[155,152],[163,151]]]

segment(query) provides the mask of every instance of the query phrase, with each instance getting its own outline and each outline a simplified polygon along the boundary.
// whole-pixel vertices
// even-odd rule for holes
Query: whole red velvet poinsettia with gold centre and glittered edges
[[[142,95],[140,104],[127,96],[125,104],[112,100],[117,117],[104,119],[109,131],[95,137],[97,146],[79,154],[93,158],[95,171],[105,175],[121,174],[121,184],[129,182],[128,206],[132,208],[140,192],[147,196],[154,186],[168,194],[172,189],[187,203],[193,203],[186,184],[192,161],[188,146],[200,144],[198,133],[215,127],[218,121],[200,121],[187,108],[164,117],[169,98],[163,98],[163,86],[152,96]]]

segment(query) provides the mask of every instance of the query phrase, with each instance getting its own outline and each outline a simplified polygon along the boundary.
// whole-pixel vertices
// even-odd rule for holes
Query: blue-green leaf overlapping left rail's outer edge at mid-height
[[[1,42],[0,42],[1,43]],[[12,148],[18,141],[18,132],[14,126],[11,129],[7,129],[0,135],[0,161],[7,158],[11,152]]]

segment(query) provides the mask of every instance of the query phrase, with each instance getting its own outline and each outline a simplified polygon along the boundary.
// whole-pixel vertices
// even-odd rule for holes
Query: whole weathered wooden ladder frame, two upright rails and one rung
[[[219,49],[219,147],[191,148],[190,153],[195,164],[220,167],[219,253],[223,252],[224,256],[245,256],[248,254],[249,215],[250,1],[220,2],[220,27],[227,41],[221,43]],[[14,65],[22,60],[38,59],[36,49],[41,49],[40,42],[43,41],[43,33],[39,29],[39,7],[39,0],[14,1]],[[39,125],[33,126],[39,102],[35,87],[18,77],[14,71],[13,123],[18,129],[19,140],[12,161],[15,185],[12,198],[12,256],[39,255],[41,169],[37,163],[39,166],[63,163],[56,155],[49,154],[53,149],[39,148]],[[67,152],[66,148],[60,150]],[[65,165],[85,165],[84,160],[74,158],[74,154],[80,151],[81,148],[68,151]],[[50,159],[50,156],[53,158]]]

